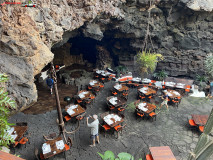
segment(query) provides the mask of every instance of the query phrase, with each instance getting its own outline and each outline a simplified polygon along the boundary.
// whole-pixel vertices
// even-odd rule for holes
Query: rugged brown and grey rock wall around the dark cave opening
[[[155,50],[165,56],[158,69],[171,76],[203,73],[203,59],[213,50],[212,2],[155,2],[150,33]],[[117,52],[125,38],[130,54],[137,53],[146,32],[149,1],[37,0],[36,8],[0,7],[0,72],[10,76],[8,90],[23,110],[37,100],[34,76],[53,59],[51,47],[74,37],[71,31],[83,26],[84,35],[97,40],[109,31]],[[122,59],[129,53],[118,54]]]

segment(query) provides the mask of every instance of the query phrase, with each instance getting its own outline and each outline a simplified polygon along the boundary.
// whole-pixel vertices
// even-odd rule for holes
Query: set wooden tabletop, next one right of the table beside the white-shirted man
[[[156,109],[156,105],[147,102],[140,102],[136,105],[136,108],[143,113],[150,114]]]

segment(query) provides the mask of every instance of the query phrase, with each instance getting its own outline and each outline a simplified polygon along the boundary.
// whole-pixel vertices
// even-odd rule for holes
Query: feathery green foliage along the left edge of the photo
[[[11,123],[8,123],[10,110],[15,109],[15,101],[8,97],[8,92],[5,92],[5,88],[2,87],[4,82],[8,80],[7,75],[0,74],[0,149],[2,146],[8,147],[10,142],[14,142],[7,130],[10,128]]]

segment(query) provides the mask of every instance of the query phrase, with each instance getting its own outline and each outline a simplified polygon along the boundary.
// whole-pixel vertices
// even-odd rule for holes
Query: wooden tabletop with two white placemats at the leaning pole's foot
[[[66,148],[61,137],[57,137],[53,140],[48,140],[42,145],[42,153],[44,159],[50,158],[64,151],[66,151]]]

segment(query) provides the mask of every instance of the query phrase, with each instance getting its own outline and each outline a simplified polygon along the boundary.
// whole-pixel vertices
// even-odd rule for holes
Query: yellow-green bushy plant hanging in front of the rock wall
[[[145,73],[148,73],[148,71],[153,72],[160,60],[163,60],[163,56],[158,53],[151,53],[150,50],[139,51],[137,54],[137,63],[141,71]]]

